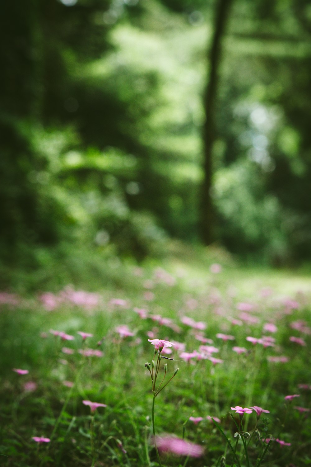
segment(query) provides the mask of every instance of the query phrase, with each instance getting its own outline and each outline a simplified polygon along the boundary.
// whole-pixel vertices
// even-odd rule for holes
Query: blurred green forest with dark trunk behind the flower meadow
[[[308,0],[16,0],[0,35],[2,286],[170,239],[311,259]]]

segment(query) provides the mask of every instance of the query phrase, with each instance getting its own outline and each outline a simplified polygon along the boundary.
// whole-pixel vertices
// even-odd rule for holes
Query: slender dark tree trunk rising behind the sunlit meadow
[[[204,96],[206,120],[203,127],[203,172],[200,195],[200,234],[205,245],[214,241],[214,212],[211,198],[212,152],[216,137],[215,101],[218,89],[218,71],[221,60],[221,39],[224,34],[229,9],[233,0],[219,0],[214,21],[214,35],[208,59],[209,79]]]

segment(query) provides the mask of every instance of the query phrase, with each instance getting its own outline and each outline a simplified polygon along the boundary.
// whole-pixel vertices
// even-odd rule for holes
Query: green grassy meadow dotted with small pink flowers
[[[0,293],[1,465],[311,464],[310,274],[107,267],[100,288]]]

